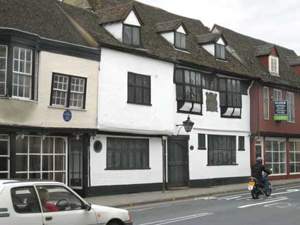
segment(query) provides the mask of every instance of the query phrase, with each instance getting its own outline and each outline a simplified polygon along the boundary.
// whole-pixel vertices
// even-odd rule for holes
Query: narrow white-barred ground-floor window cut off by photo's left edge
[[[0,135],[0,179],[9,176],[9,142],[8,135]]]

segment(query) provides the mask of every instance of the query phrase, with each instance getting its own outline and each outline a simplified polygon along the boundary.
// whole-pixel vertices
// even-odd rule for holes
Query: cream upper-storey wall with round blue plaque
[[[71,109],[72,119],[64,121],[64,108],[49,107],[52,73],[87,79],[85,110]],[[39,58],[38,102],[0,98],[0,124],[56,128],[97,127],[97,82],[99,61],[41,51]]]

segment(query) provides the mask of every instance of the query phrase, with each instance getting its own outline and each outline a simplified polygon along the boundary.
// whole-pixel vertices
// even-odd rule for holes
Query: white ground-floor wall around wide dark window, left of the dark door
[[[97,135],[95,140],[100,140],[102,142],[102,151],[100,153],[96,153],[92,150],[92,145],[95,140],[91,139],[91,186],[162,183],[161,138],[149,138],[149,166],[151,169],[105,170],[107,166],[107,137],[117,138],[118,136]],[[126,137],[122,136],[119,138]]]

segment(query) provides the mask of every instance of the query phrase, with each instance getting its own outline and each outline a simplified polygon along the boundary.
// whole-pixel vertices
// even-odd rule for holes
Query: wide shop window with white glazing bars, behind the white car
[[[16,140],[16,178],[36,178],[66,183],[66,141],[40,136]]]

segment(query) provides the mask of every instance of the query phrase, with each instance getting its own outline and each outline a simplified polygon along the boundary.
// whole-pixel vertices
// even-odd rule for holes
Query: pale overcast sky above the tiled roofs
[[[138,0],[195,18],[212,28],[217,23],[244,35],[293,49],[300,55],[299,0]]]

